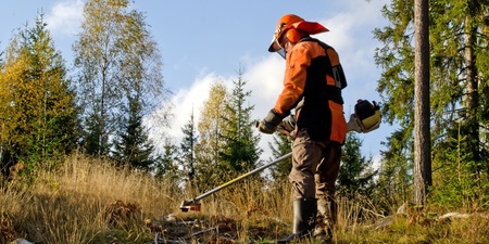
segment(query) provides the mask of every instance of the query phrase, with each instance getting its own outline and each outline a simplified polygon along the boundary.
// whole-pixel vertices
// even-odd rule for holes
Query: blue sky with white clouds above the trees
[[[54,46],[70,68],[73,64],[72,44],[80,31],[86,0],[22,0],[8,1],[0,9],[0,50],[4,50],[17,28],[34,25],[43,13]],[[329,29],[314,36],[334,47],[347,76],[343,90],[347,120],[358,99],[380,101],[376,91],[381,69],[374,63],[375,49],[381,43],[373,30],[388,22],[380,9],[388,0],[135,0],[133,9],[146,15],[146,23],[162,55],[162,74],[173,94],[172,127],[151,132],[154,140],[171,136],[179,144],[181,127],[192,110],[196,120],[208,99],[210,84],[224,81],[229,89],[242,69],[249,105],[254,105],[252,119],[262,119],[275,105],[281,91],[285,61],[267,51],[278,20],[288,13],[306,21],[318,22]],[[358,134],[363,140],[362,153],[378,160],[383,141],[393,128],[383,123],[369,133]],[[262,134],[262,159],[271,157],[268,141]]]

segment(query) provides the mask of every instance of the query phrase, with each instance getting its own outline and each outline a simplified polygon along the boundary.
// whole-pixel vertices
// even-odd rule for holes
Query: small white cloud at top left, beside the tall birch
[[[83,16],[84,2],[76,1],[60,1],[48,13],[46,22],[48,28],[54,34],[74,35],[78,33]]]

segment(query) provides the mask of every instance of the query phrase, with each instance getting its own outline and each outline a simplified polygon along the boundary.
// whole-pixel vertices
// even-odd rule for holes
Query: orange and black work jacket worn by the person
[[[347,87],[338,53],[317,39],[305,37],[286,60],[284,89],[274,110],[287,115],[296,110],[297,129],[308,129],[312,140],[344,142],[347,121],[341,90]]]

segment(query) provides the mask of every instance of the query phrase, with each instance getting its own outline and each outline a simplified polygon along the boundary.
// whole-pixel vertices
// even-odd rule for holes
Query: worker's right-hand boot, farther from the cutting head
[[[317,203],[317,219],[316,228],[314,230],[314,239],[324,242],[333,240],[333,229],[336,224],[336,203],[335,201],[318,201]]]

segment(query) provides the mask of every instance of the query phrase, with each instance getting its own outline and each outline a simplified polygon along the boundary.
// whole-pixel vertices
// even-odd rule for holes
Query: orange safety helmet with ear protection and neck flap
[[[299,17],[294,14],[286,14],[277,23],[275,28],[274,38],[268,48],[268,52],[276,52],[281,49],[278,40],[280,37],[286,34],[286,38],[296,43],[301,39],[301,35],[298,29],[303,30],[310,35],[315,35],[319,33],[329,31],[329,29],[325,28],[323,25],[316,22],[306,22],[304,18]],[[287,31],[288,30],[288,31]]]

